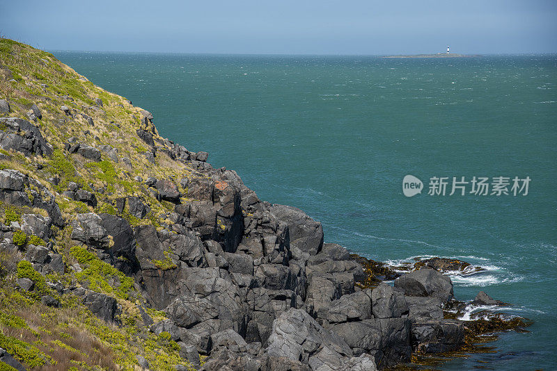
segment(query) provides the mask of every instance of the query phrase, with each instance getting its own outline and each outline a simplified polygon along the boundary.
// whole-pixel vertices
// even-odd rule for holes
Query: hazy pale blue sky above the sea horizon
[[[556,0],[0,0],[42,49],[185,53],[557,52]]]

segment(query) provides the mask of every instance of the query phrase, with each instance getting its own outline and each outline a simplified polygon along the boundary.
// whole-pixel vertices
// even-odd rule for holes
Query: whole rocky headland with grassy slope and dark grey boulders
[[[466,345],[434,265],[324,243],[153,120],[0,40],[1,370],[375,370]]]

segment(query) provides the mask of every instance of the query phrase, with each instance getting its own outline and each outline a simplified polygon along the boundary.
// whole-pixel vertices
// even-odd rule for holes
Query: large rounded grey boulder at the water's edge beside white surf
[[[442,302],[453,299],[450,278],[432,269],[424,268],[398,277],[395,288],[401,288],[408,296],[437,297]]]

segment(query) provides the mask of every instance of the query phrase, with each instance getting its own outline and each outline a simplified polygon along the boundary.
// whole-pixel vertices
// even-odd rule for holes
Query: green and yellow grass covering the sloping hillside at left
[[[182,177],[194,176],[194,171],[168,156],[171,143],[157,135],[149,114],[141,108],[93,85],[51,53],[5,38],[0,39],[0,99],[10,106],[10,111],[0,113],[0,117],[32,122],[52,145],[49,156],[26,156],[1,149],[0,170],[18,170],[36,179],[40,184],[27,188],[29,197],[36,195],[33,190],[52,195],[68,221],[64,226],[53,226],[52,238],[47,240],[17,231],[10,235],[19,252],[0,254],[0,347],[27,368],[40,370],[141,369],[141,357],[137,355],[156,370],[175,370],[175,365],[191,368],[180,358],[179,347],[168,333],[155,335],[148,331],[140,311],[145,309],[155,321],[164,318],[164,313],[146,307],[133,279],[95,254],[74,246],[69,221],[77,213],[109,213],[125,217],[132,226],[153,224],[160,228],[174,204],[157,200],[159,197],[142,179],[135,177],[155,176],[178,183]],[[38,108],[42,117],[30,115],[32,108]],[[0,131],[7,133],[8,129],[0,125]],[[154,137],[153,147],[138,137],[138,129]],[[115,151],[103,147],[107,151],[102,151],[98,160],[91,160],[80,152],[68,151],[68,145],[76,142],[97,149],[111,146]],[[155,156],[152,148],[157,149]],[[96,206],[64,196],[71,182],[95,195]],[[187,195],[187,190],[178,189]],[[134,217],[127,206],[118,211],[116,200],[130,195],[145,201],[150,208],[147,217]],[[1,202],[3,231],[11,233],[6,226],[22,222],[22,215],[27,213],[47,215],[40,208]],[[45,277],[33,270],[31,263],[22,261],[26,246],[47,244],[63,256],[63,273]],[[35,289],[17,290],[17,279],[22,278],[31,279]],[[84,286],[114,297],[121,308],[121,324],[109,325],[97,319],[68,293],[70,286]],[[45,304],[41,300],[44,295],[53,297],[59,306]],[[12,369],[0,362],[0,370]]]

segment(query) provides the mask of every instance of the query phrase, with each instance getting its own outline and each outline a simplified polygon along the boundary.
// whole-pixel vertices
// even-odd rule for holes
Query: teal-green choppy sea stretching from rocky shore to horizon
[[[453,276],[455,297],[485,290],[534,320],[531,332],[440,369],[557,370],[556,55],[54,55],[150,110],[161,135],[236,170],[260,199],[306,211],[326,242],[391,263],[485,267]],[[421,194],[403,195],[407,174]],[[450,196],[453,176],[508,177],[510,194],[473,195],[468,183]],[[515,176],[531,179],[528,195],[512,195]],[[432,177],[448,177],[446,195],[427,194]]]

